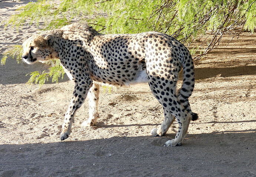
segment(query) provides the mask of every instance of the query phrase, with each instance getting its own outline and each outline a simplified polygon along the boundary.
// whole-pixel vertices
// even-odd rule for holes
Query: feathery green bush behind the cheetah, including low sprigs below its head
[[[159,31],[187,46],[210,31],[199,44],[206,46],[204,51],[198,52],[199,46],[190,47],[194,58],[213,50],[226,32],[233,33],[237,27],[251,32],[256,29],[255,0],[38,0],[18,10],[20,13],[13,15],[7,26],[19,27],[28,20],[53,29],[72,21],[86,21],[101,33]],[[1,64],[6,56],[10,56],[8,52]],[[45,83],[49,77],[58,81],[63,70],[58,63],[52,67],[42,74],[30,73],[29,82]]]

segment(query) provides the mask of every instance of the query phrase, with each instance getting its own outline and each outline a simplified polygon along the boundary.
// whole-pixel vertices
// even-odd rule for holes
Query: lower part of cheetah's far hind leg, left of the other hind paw
[[[153,128],[151,130],[152,136],[160,136],[160,137],[164,136],[167,130],[169,129],[169,127],[171,126],[171,124],[173,123],[173,121],[175,120],[175,117],[171,113],[169,113],[165,108],[163,109],[164,109],[164,121],[158,129]]]

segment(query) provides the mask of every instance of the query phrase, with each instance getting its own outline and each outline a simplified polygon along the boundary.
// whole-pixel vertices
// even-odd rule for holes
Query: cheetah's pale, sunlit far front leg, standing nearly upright
[[[88,103],[89,103],[89,118],[82,123],[82,126],[89,127],[94,126],[98,117],[98,101],[99,101],[99,85],[93,83],[92,87],[88,92]]]

